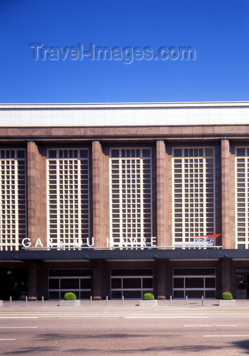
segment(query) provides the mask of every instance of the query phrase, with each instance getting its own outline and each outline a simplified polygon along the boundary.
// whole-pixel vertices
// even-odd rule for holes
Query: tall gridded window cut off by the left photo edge
[[[0,250],[18,250],[26,238],[25,150],[0,150]]]

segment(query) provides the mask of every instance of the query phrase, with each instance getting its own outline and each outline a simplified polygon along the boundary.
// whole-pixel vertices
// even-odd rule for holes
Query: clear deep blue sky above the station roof
[[[0,0],[0,102],[249,100],[248,0]],[[193,47],[195,60],[34,59],[44,47]]]

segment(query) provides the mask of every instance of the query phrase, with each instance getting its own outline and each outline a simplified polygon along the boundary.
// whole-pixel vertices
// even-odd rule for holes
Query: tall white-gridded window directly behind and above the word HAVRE
[[[112,149],[111,246],[151,241],[151,150]]]

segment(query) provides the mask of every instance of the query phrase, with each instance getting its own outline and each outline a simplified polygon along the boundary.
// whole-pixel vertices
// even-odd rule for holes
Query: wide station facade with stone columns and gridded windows
[[[0,105],[0,299],[249,298],[248,133],[249,102]]]

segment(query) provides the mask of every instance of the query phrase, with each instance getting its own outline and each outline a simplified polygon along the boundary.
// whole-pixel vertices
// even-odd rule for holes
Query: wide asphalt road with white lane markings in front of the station
[[[1,355],[249,353],[248,307],[3,308]]]

